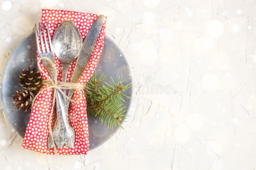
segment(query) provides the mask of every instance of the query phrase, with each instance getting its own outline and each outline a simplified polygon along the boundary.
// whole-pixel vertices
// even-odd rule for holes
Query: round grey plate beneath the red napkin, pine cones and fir
[[[22,90],[18,84],[17,76],[21,74],[21,69],[26,69],[29,65],[36,67],[36,39],[34,33],[31,33],[28,37],[22,40],[10,55],[4,68],[1,84],[1,97],[4,112],[13,128],[22,138],[25,135],[31,110],[24,113],[22,110],[17,110],[17,108],[13,107],[12,95],[15,94],[16,90]],[[112,82],[110,76],[117,82],[118,75],[123,75],[123,78],[125,78],[124,85],[132,82],[130,68],[124,54],[107,36],[105,36],[104,48],[95,72],[98,75],[100,73],[107,75],[105,81],[109,83]],[[130,88],[126,94],[127,96],[132,97],[132,88]],[[124,100],[126,101],[126,108],[129,109],[131,98],[125,97]],[[127,114],[127,112],[124,114]],[[106,142],[119,129],[119,127],[114,127],[113,131],[111,131],[108,129],[107,125],[100,124],[97,119],[93,119],[92,121],[89,120],[88,126],[89,150]]]

